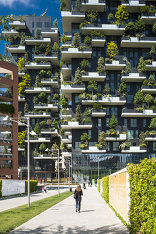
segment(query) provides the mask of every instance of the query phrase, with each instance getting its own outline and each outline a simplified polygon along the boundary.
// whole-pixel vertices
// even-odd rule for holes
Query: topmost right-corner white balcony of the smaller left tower
[[[59,30],[58,30],[58,28],[42,29],[41,34],[44,38],[50,37],[52,42],[56,41],[57,43],[59,43]]]

